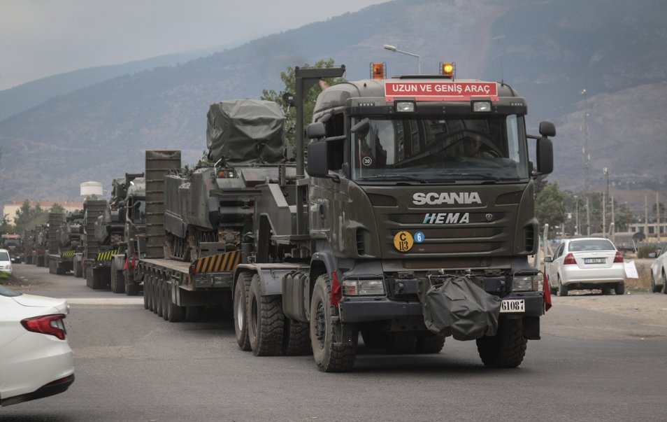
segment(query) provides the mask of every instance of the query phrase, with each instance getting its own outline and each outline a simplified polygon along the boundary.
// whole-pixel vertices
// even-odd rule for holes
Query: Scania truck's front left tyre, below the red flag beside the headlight
[[[347,372],[352,370],[357,357],[357,336],[350,344],[336,344],[336,327],[333,316],[336,309],[331,304],[331,282],[328,274],[315,281],[310,301],[310,344],[317,369],[322,372]]]

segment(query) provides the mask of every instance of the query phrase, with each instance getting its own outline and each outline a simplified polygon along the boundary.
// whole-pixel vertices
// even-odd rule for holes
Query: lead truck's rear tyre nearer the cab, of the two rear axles
[[[248,290],[248,339],[254,356],[278,356],[282,353],[285,322],[280,296],[262,296],[259,276],[252,276]]]

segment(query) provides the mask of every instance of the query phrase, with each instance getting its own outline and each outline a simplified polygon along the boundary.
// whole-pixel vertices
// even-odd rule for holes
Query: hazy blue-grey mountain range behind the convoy
[[[145,149],[180,149],[194,164],[206,149],[208,106],[281,90],[288,66],[331,57],[350,80],[367,78],[377,61],[389,75],[416,73],[415,57],[384,44],[418,53],[422,73],[453,59],[459,78],[515,87],[530,133],[540,120],[557,124],[550,180],[561,188],[583,186],[588,113],[590,187],[601,187],[608,167],[614,188],[652,181],[667,195],[666,11],[662,0],[398,0],[103,80],[0,122],[0,202],[75,199],[80,182],[141,171]]]

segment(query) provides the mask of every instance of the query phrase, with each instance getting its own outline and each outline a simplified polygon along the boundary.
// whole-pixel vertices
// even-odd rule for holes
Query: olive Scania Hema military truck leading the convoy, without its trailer
[[[554,125],[526,134],[526,100],[505,83],[372,72],[317,98],[306,174],[303,98],[343,72],[295,69],[297,176],[257,186],[234,274],[238,345],[312,346],[320,370],[341,372],[359,334],[401,353],[438,353],[451,336],[474,339],[489,367],[517,367],[540,338],[545,286],[528,257]]]

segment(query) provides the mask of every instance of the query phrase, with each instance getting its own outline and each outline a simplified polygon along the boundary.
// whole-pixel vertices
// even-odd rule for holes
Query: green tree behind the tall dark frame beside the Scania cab
[[[315,63],[314,66],[310,64],[303,64],[301,67],[315,67],[317,69],[328,69],[333,67],[333,59],[329,60],[320,60]],[[280,92],[275,92],[274,90],[262,90],[261,99],[268,101],[275,101],[285,110],[287,119],[285,121],[285,132],[287,132],[287,140],[289,144],[294,146],[295,143],[295,134],[294,129],[296,127],[296,108],[289,106],[283,95],[286,93],[294,94],[296,92],[296,76],[294,74],[294,68],[288,67],[284,72],[280,72],[280,79],[282,83],[285,83],[285,89]],[[335,85],[336,83],[344,82],[343,78],[326,78],[324,82],[328,85]],[[303,101],[303,125],[307,126],[313,120],[313,110],[315,109],[315,101],[317,100],[317,95],[322,92],[320,86],[315,85],[313,89],[309,90],[306,93],[306,98]]]

